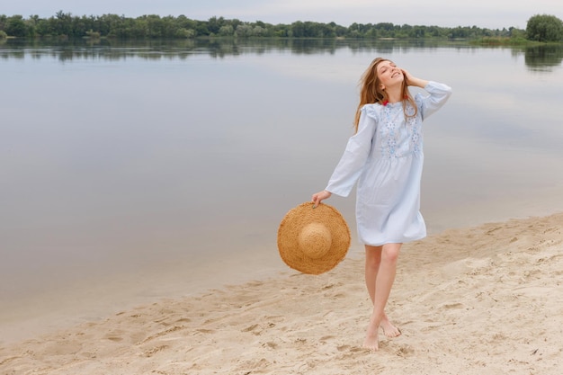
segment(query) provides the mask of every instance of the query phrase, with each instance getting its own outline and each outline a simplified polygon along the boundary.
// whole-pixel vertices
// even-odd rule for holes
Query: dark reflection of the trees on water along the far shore
[[[22,59],[29,56],[72,59],[146,60],[187,59],[206,55],[226,58],[245,54],[262,55],[273,50],[295,55],[335,54],[339,49],[353,52],[373,51],[380,55],[417,49],[511,49],[514,56],[524,56],[526,67],[533,71],[550,72],[563,60],[563,45],[535,47],[476,47],[467,41],[444,40],[337,40],[337,39],[254,39],[254,40],[6,40],[0,44],[0,58]]]

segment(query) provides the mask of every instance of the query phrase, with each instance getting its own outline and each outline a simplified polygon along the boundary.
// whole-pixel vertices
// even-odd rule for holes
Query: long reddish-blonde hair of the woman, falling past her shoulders
[[[377,67],[383,61],[390,60],[387,58],[375,58],[373,61],[371,61],[370,66],[362,74],[362,78],[360,80],[360,103],[358,104],[356,115],[353,121],[355,132],[358,132],[360,114],[362,112],[362,107],[365,104],[380,103],[382,105],[385,105],[385,103],[389,100],[385,90],[381,89],[380,77],[377,75]],[[403,112],[405,113],[405,117],[416,116],[418,110],[416,108],[415,99],[413,99],[412,95],[408,91],[408,85],[406,81],[403,81],[403,85],[401,87],[401,96],[404,98]],[[414,113],[407,113],[407,103],[410,103],[411,106],[415,109]]]

